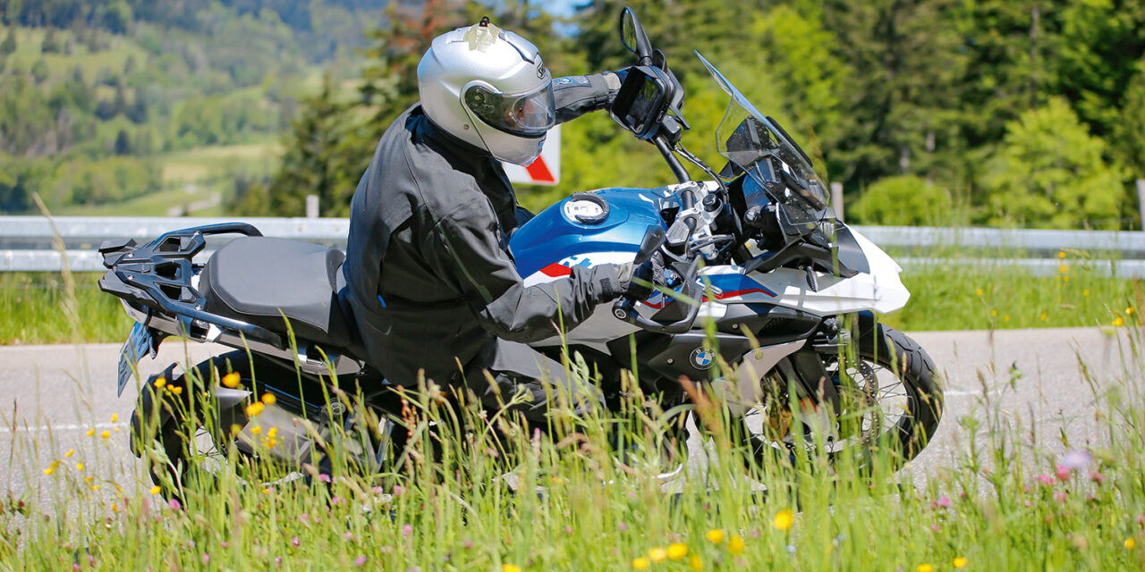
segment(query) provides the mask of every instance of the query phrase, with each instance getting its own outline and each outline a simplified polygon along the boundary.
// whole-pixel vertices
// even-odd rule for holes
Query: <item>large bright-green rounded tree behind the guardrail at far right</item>
[[[981,184],[994,225],[1116,229],[1123,174],[1060,97],[1006,125]]]

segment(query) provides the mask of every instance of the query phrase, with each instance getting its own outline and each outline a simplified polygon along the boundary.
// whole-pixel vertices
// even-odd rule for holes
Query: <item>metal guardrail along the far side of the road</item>
[[[255,225],[268,237],[293,238],[339,248],[346,247],[349,231],[347,219],[260,219],[260,217],[89,217],[54,219],[63,240],[69,268],[74,271],[102,271],[102,259],[95,249],[111,238],[134,238],[139,243],[164,232],[242,221]],[[961,263],[1021,265],[1034,272],[1057,271],[1057,254],[1089,252],[1098,270],[1122,277],[1145,278],[1145,232],[1083,230],[1016,230],[1016,229],[947,229],[921,227],[856,227],[883,248],[910,251],[900,257],[903,265],[939,262],[919,256],[926,249],[955,248],[969,251],[1024,253],[1018,259],[979,259]],[[58,271],[63,256],[56,251],[52,223],[42,216],[0,217],[0,271]],[[212,245],[222,240],[212,239]],[[988,256],[988,255],[987,255]],[[942,259],[941,262],[950,262]]]

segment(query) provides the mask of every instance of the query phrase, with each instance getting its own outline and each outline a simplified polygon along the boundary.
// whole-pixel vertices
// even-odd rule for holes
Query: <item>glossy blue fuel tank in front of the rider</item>
[[[569,215],[569,201],[586,200],[594,194],[607,205],[607,216],[593,222],[581,222]],[[578,254],[599,252],[635,252],[640,248],[648,227],[664,227],[658,201],[665,192],[660,189],[610,188],[576,193],[548,208],[518,229],[510,238],[510,248],[516,261],[516,271],[529,276],[542,268]]]

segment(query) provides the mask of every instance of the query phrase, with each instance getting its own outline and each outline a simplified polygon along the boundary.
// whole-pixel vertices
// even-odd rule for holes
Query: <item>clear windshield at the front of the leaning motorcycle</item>
[[[811,159],[796,145],[779,124],[756,110],[755,105],[724,77],[703,55],[712,78],[728,95],[727,113],[716,130],[719,154],[743,169],[759,189],[777,183],[780,192],[772,199],[783,204],[792,222],[812,222],[823,217],[827,207],[827,184],[815,174]],[[753,185],[756,186],[756,185]],[[757,202],[744,197],[748,204]]]

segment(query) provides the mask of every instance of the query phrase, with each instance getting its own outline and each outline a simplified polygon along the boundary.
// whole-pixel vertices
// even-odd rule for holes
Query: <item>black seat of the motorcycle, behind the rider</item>
[[[338,248],[247,237],[227,243],[211,256],[199,276],[205,310],[286,333],[290,320],[299,345],[303,341],[345,350],[356,326],[339,302],[345,287]],[[341,353],[342,351],[338,351]]]

